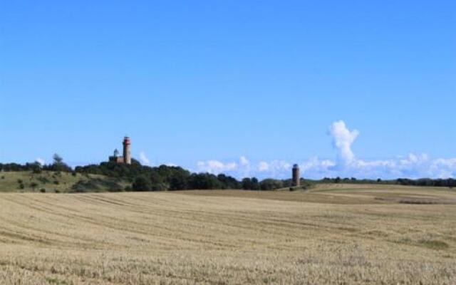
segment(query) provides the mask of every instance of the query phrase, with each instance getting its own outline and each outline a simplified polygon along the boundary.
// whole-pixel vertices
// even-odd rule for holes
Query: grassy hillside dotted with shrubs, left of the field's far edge
[[[0,192],[112,192],[130,183],[103,175],[42,171],[0,172]]]

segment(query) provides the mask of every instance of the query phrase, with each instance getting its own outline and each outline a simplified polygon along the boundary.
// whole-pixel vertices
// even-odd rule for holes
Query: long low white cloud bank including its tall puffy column
[[[337,151],[336,160],[311,157],[308,160],[294,162],[286,160],[257,160],[252,162],[247,157],[241,156],[239,162],[200,161],[197,163],[197,170],[214,174],[224,172],[237,178],[255,176],[284,179],[291,176],[291,167],[297,162],[301,167],[303,177],[311,179],[336,176],[361,179],[456,177],[456,158],[432,159],[425,153],[410,153],[384,160],[363,160],[356,157],[351,146],[360,133],[358,130],[350,130],[343,120],[332,123],[328,129],[328,135],[331,135],[333,146]]]

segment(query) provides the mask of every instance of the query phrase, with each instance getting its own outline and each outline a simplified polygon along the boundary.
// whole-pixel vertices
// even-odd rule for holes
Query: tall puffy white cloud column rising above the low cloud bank
[[[351,150],[351,144],[358,138],[358,130],[348,130],[343,120],[334,122],[329,128],[329,134],[333,137],[333,145],[338,149],[338,159],[350,164],[355,159]]]

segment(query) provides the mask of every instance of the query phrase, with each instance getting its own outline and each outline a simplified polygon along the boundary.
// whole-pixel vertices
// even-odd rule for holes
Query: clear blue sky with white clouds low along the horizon
[[[456,177],[455,1],[1,1],[0,162]]]

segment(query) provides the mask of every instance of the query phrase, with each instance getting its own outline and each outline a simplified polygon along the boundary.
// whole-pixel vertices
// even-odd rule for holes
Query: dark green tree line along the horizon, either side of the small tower
[[[160,190],[208,190],[208,189],[239,189],[239,190],[276,190],[291,187],[291,179],[277,180],[267,178],[258,180],[257,177],[246,177],[237,180],[229,175],[211,173],[192,173],[178,166],[160,165],[159,167],[149,167],[141,165],[138,160],[132,159],[132,164],[122,164],[115,162],[101,162],[99,165],[77,166],[74,170],[69,167],[60,155],[53,155],[53,163],[41,165],[39,162],[26,163],[0,163],[0,171],[32,171],[39,173],[43,170],[55,172],[72,172],[89,175],[105,175],[118,180],[130,182],[125,190],[134,191],[160,191]],[[418,179],[411,180],[399,178],[397,180],[357,180],[351,178],[329,178],[322,180],[301,179],[303,188],[311,187],[317,183],[358,183],[358,184],[388,184],[388,185],[413,185],[413,186],[435,186],[435,187],[455,187],[456,180],[448,179]]]

